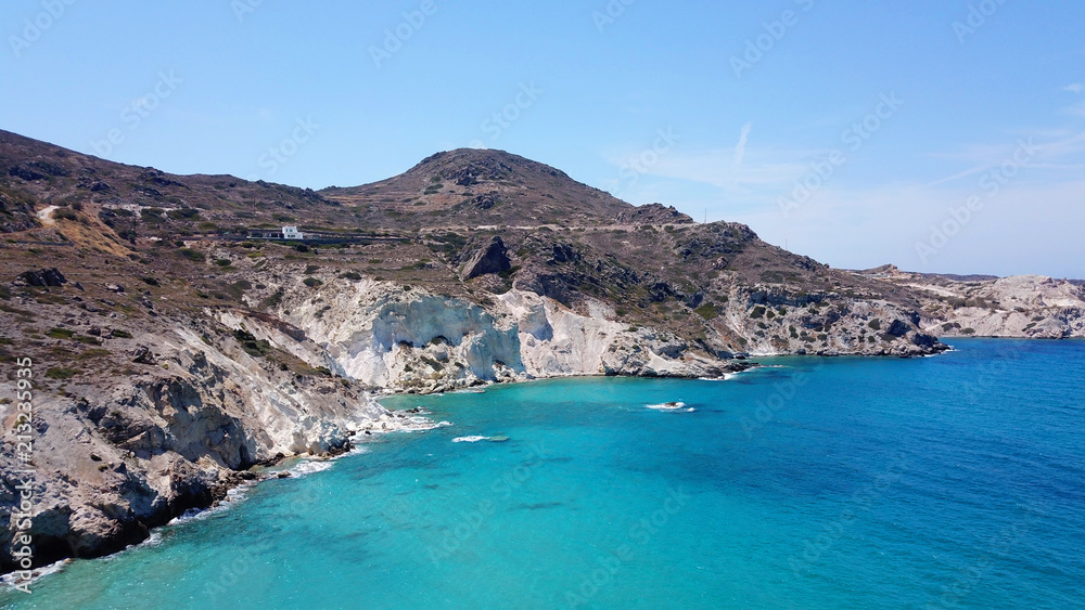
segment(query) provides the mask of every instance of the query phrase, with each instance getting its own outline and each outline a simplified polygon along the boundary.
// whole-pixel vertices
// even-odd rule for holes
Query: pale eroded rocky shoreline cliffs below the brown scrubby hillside
[[[39,393],[35,567],[139,543],[252,482],[253,467],[330,457],[368,436],[432,425],[385,410],[375,397],[386,392],[595,375],[724,378],[754,366],[750,358],[804,353],[810,341],[820,355],[946,349],[888,302],[797,302],[736,290],[712,321],[716,334],[690,341],[622,322],[613,306],[592,298],[571,307],[513,287],[478,304],[361,275],[310,273],[316,282],[284,283],[302,275],[295,264],[253,265],[248,307],[208,307],[195,316],[144,304],[153,314],[124,328],[110,309],[88,307],[88,288],[62,281],[60,271],[40,274],[54,286],[31,288],[24,278],[20,287],[34,291],[7,301],[16,312],[31,298],[71,298],[50,310],[58,339],[49,349],[86,337],[114,354],[98,362],[92,378]],[[124,291],[119,284],[101,288]],[[882,320],[884,327],[873,323]],[[766,321],[790,326],[791,339],[768,336]],[[725,349],[736,332],[748,337],[748,352]],[[0,390],[14,387],[3,381]],[[14,508],[22,480],[8,473],[18,465],[8,453],[0,463],[0,505]],[[13,531],[0,531],[2,572],[18,567]]]

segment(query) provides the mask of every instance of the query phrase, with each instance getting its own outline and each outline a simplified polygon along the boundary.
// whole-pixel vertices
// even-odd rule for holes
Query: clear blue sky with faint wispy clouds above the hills
[[[486,146],[834,267],[1085,277],[1083,33],[1024,0],[5,0],[0,128],[312,189]]]

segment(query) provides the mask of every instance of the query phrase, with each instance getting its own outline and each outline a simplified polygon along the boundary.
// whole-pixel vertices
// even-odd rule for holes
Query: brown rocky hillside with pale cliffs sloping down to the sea
[[[0,511],[21,482],[14,363],[30,358],[36,564],[141,540],[254,465],[433,425],[380,392],[945,349],[907,283],[498,151],[312,192],[0,132]],[[285,224],[355,236],[245,238]]]

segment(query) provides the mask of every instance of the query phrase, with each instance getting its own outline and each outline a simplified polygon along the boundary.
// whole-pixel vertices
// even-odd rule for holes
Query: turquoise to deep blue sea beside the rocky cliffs
[[[1085,342],[953,342],[390,399],[455,426],[0,605],[1085,608]]]

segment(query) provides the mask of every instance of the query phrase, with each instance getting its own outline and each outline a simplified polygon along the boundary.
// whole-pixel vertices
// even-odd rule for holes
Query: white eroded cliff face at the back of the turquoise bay
[[[511,290],[483,309],[420,289],[329,276],[288,286],[276,316],[218,312],[224,324],[362,384],[443,391],[500,380],[574,375],[720,375],[723,363],[689,353],[677,337],[589,315]],[[304,333],[301,330],[304,328]]]

